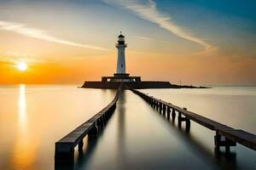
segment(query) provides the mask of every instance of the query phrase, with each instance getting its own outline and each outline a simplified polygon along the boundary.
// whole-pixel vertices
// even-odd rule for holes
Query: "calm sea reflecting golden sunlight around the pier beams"
[[[141,91],[256,133],[256,88]],[[0,169],[256,169],[255,151],[237,144],[229,156],[217,154],[212,131],[192,122],[185,133],[131,91],[121,95],[103,133],[84,139],[74,167],[55,167],[55,141],[114,95],[76,86],[0,86]]]

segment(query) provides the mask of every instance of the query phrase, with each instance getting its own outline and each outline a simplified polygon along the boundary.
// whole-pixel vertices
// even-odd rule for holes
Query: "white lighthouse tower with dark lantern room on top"
[[[127,45],[125,44],[125,36],[122,34],[119,35],[118,43],[115,45],[118,48],[118,60],[117,60],[117,68],[116,74],[126,74],[125,71],[125,48]]]

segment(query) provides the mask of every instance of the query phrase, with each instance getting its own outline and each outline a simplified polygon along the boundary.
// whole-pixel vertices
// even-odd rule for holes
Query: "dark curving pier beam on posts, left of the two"
[[[114,99],[102,111],[55,143],[55,162],[73,162],[74,148],[79,144],[79,151],[83,150],[84,137],[86,135],[96,135],[100,128],[108,122],[110,116],[112,116],[122,86],[122,84],[119,86]]]

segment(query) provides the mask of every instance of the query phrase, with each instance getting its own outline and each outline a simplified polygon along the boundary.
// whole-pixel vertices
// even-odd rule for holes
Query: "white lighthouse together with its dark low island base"
[[[125,83],[125,88],[195,88],[192,86],[179,86],[171,84],[170,82],[159,81],[142,81],[141,77],[130,77],[130,74],[126,72],[125,65],[125,36],[122,34],[118,37],[118,43],[115,45],[118,48],[117,69],[113,77],[102,77],[102,82],[84,82],[81,88],[119,88],[121,83]]]

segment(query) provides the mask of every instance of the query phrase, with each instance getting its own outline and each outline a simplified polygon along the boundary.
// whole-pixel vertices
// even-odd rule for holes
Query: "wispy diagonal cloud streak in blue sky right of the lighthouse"
[[[138,1],[138,0],[103,0],[105,3],[118,4],[126,9],[129,9],[132,13],[137,14],[143,20],[148,20],[158,26],[171,31],[178,37],[183,37],[191,42],[201,44],[206,50],[210,50],[212,44],[206,42],[200,37],[195,37],[188,28],[177,26],[170,16],[162,14],[157,8],[153,0]]]

